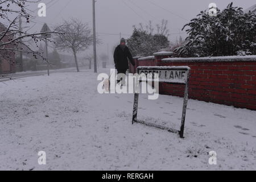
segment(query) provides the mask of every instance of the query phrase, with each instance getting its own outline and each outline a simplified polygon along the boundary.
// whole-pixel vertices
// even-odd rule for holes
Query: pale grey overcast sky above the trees
[[[96,2],[96,31],[102,41],[97,46],[97,53],[107,53],[109,45],[110,60],[112,49],[119,43],[119,32],[122,37],[129,38],[133,32],[133,25],[146,24],[152,20],[157,24],[162,19],[168,20],[170,29],[169,40],[175,41],[180,35],[186,34],[181,28],[190,19],[195,18],[201,10],[208,8],[214,2],[219,9],[224,9],[232,0],[97,0]],[[42,23],[49,27],[60,23],[62,19],[79,18],[92,27],[92,0],[42,0],[47,4],[47,16],[37,17],[37,24],[33,30],[39,30]],[[255,4],[255,0],[233,0],[235,6],[248,7]],[[30,9],[36,10],[37,5]],[[37,16],[37,10],[34,13]],[[25,26],[25,25],[24,25]],[[31,25],[30,25],[31,26]],[[116,34],[116,35],[112,35]],[[89,53],[90,51],[86,51]],[[83,53],[84,54],[84,53]],[[134,55],[135,56],[135,55]]]

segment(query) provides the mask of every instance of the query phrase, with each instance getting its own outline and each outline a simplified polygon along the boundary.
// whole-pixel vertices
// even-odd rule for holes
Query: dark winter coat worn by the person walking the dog
[[[127,58],[129,58],[131,64],[135,65],[129,48],[125,46],[125,48],[122,49],[120,45],[117,46],[114,52],[115,69],[129,69]]]

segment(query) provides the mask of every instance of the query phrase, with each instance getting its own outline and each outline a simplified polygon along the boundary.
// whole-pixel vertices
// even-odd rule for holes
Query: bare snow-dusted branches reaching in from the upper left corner
[[[35,58],[40,56],[43,60],[46,60],[42,52],[38,51],[38,43],[47,39],[46,34],[57,32],[30,34],[28,33],[30,28],[21,30],[19,26],[19,18],[26,19],[27,23],[30,23],[30,20],[33,18],[32,15],[27,13],[27,11],[30,11],[27,9],[28,3],[38,2],[29,0],[0,0],[0,19],[3,20],[3,23],[0,23],[0,56],[3,60],[13,63],[15,52],[32,54]],[[35,46],[26,44],[31,41],[36,46],[36,50],[34,49]],[[51,42],[51,40],[48,41]]]

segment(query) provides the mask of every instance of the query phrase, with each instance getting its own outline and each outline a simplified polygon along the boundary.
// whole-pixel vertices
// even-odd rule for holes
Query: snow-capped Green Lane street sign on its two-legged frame
[[[184,101],[183,101],[183,111],[181,117],[181,126],[180,131],[176,129],[171,129],[166,126],[157,125],[155,123],[149,123],[145,121],[139,121],[137,119],[138,115],[138,102],[139,102],[139,94],[134,94],[134,107],[133,107],[133,124],[135,122],[142,123],[143,125],[156,127],[162,130],[168,130],[172,133],[178,133],[181,138],[184,138],[184,128],[185,128],[185,115],[187,111],[188,105],[188,81],[189,81],[189,67],[138,67],[137,73],[141,75],[144,73],[145,75],[157,73],[159,75],[159,82],[167,82],[170,84],[183,84],[185,85],[184,92]]]

